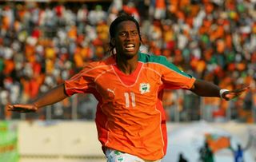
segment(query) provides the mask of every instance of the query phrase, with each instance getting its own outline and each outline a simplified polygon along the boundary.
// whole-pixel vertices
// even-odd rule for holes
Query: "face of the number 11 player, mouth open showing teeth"
[[[131,58],[137,55],[140,46],[140,36],[134,22],[125,21],[118,24],[117,34],[115,34],[114,44],[117,54]]]

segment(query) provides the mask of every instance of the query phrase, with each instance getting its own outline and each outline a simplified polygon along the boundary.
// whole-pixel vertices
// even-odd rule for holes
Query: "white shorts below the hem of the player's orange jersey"
[[[106,158],[107,162],[161,162],[161,160],[142,160],[138,156],[133,156],[125,152],[119,152],[111,148],[106,148]]]

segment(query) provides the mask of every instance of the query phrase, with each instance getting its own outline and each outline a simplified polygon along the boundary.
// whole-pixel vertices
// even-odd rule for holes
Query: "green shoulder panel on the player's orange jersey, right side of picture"
[[[157,63],[157,64],[161,64],[166,66],[167,68],[174,70],[177,73],[180,73],[186,77],[192,77],[187,73],[184,73],[182,70],[178,69],[178,67],[172,63],[170,63],[170,61],[167,61],[167,58],[164,56],[156,56],[156,55],[150,55],[150,54],[146,54],[146,53],[138,53],[138,61],[142,61],[143,63]]]

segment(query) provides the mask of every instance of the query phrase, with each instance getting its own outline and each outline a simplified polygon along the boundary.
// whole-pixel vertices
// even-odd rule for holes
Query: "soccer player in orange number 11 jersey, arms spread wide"
[[[110,57],[91,62],[81,72],[30,104],[9,105],[10,111],[36,112],[75,93],[98,100],[98,140],[108,162],[161,161],[166,154],[163,89],[188,89],[202,97],[230,100],[248,89],[220,89],[182,72],[166,57],[139,52],[138,22],[121,15],[110,25]]]

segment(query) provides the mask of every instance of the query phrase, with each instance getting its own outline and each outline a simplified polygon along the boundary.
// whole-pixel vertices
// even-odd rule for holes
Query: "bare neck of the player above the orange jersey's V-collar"
[[[133,73],[138,65],[138,55],[127,59],[126,57],[117,57],[118,69],[123,73]]]

